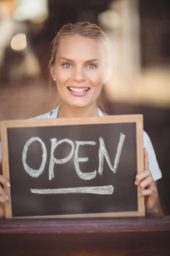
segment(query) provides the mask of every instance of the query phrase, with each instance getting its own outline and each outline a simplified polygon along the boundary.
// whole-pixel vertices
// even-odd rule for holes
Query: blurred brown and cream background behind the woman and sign
[[[163,177],[170,215],[170,1],[0,0],[0,120],[25,119],[56,105],[50,43],[65,23],[99,24],[112,48],[105,85],[109,114],[143,114]]]

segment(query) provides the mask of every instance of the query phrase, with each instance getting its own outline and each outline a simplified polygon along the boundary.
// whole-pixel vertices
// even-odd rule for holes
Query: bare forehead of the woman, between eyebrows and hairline
[[[102,56],[102,44],[92,38],[81,35],[68,36],[62,39],[57,51],[57,57],[71,59],[100,59]]]

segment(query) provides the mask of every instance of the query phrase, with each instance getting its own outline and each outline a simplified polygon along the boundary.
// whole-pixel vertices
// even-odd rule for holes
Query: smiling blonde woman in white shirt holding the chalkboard
[[[51,78],[56,82],[59,105],[36,119],[60,117],[104,116],[102,88],[111,76],[111,61],[108,40],[95,24],[88,22],[62,26],[52,42],[52,57],[49,62]],[[0,152],[1,158],[1,152]],[[0,166],[2,159],[0,159]],[[148,135],[144,132],[144,170],[136,175],[135,184],[140,186],[140,195],[145,196],[146,212],[161,213],[156,180],[161,178],[156,155]],[[0,175],[0,183],[10,186],[6,177]],[[139,195],[139,196],[140,196]],[[8,195],[0,186],[0,217]]]

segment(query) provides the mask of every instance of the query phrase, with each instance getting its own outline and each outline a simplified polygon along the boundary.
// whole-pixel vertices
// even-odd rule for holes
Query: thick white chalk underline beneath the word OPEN
[[[70,194],[70,193],[83,193],[83,194],[98,194],[98,195],[111,195],[113,194],[114,187],[108,186],[89,186],[77,188],[64,188],[64,189],[30,189],[34,194]]]

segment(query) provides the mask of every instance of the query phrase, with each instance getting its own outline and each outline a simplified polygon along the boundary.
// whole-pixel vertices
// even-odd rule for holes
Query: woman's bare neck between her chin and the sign
[[[99,112],[96,104],[80,108],[62,103],[59,107],[58,117],[99,117]]]

